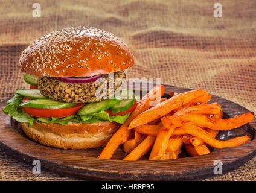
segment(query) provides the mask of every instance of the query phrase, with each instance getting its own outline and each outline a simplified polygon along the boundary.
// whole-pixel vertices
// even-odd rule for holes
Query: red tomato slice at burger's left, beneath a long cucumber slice
[[[23,102],[31,100],[30,98],[23,98]],[[65,116],[75,115],[79,109],[81,109],[85,103],[77,104],[74,107],[68,107],[64,109],[37,109],[33,107],[23,107],[25,113],[31,116],[43,117],[43,118],[62,118]]]

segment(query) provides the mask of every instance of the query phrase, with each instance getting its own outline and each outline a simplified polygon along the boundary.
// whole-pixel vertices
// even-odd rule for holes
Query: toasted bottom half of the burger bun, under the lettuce
[[[34,122],[32,127],[28,127],[25,122],[21,124],[28,138],[42,145],[72,150],[85,150],[106,145],[118,126],[116,122],[69,123],[68,125]]]

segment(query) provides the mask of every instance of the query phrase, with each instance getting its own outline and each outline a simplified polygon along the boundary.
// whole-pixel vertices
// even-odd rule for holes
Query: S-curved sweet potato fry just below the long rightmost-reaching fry
[[[251,140],[248,136],[241,136],[241,137],[229,139],[227,141],[220,141],[211,137],[210,134],[202,130],[202,128],[197,127],[196,125],[184,125],[182,127],[176,128],[173,131],[173,136],[176,136],[176,135],[179,136],[184,134],[190,134],[192,136],[196,136],[200,139],[203,139],[203,141],[206,144],[211,145],[211,147],[215,147],[219,149],[222,149],[225,147],[234,147],[237,145],[242,145]]]

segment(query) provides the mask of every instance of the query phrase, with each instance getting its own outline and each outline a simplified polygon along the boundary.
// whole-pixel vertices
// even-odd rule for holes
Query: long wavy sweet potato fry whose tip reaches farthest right
[[[252,121],[252,119],[254,118],[254,114],[252,112],[249,112],[230,119],[214,119],[206,115],[196,115],[190,113],[188,115],[166,117],[171,121],[171,124],[173,125],[182,124],[184,122],[191,122],[192,124],[199,127],[206,127],[213,130],[225,131],[240,127]]]

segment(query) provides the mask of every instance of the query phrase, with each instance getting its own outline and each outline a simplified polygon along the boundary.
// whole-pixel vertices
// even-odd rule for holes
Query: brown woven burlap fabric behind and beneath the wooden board
[[[256,110],[256,1],[217,1],[223,17],[213,17],[216,1],[0,1],[0,101],[27,87],[17,62],[21,51],[50,31],[89,25],[121,37],[135,66],[128,77],[161,77],[163,84],[202,88]],[[72,180],[48,171],[32,174],[0,153],[1,180]],[[256,159],[212,180],[255,180]]]

